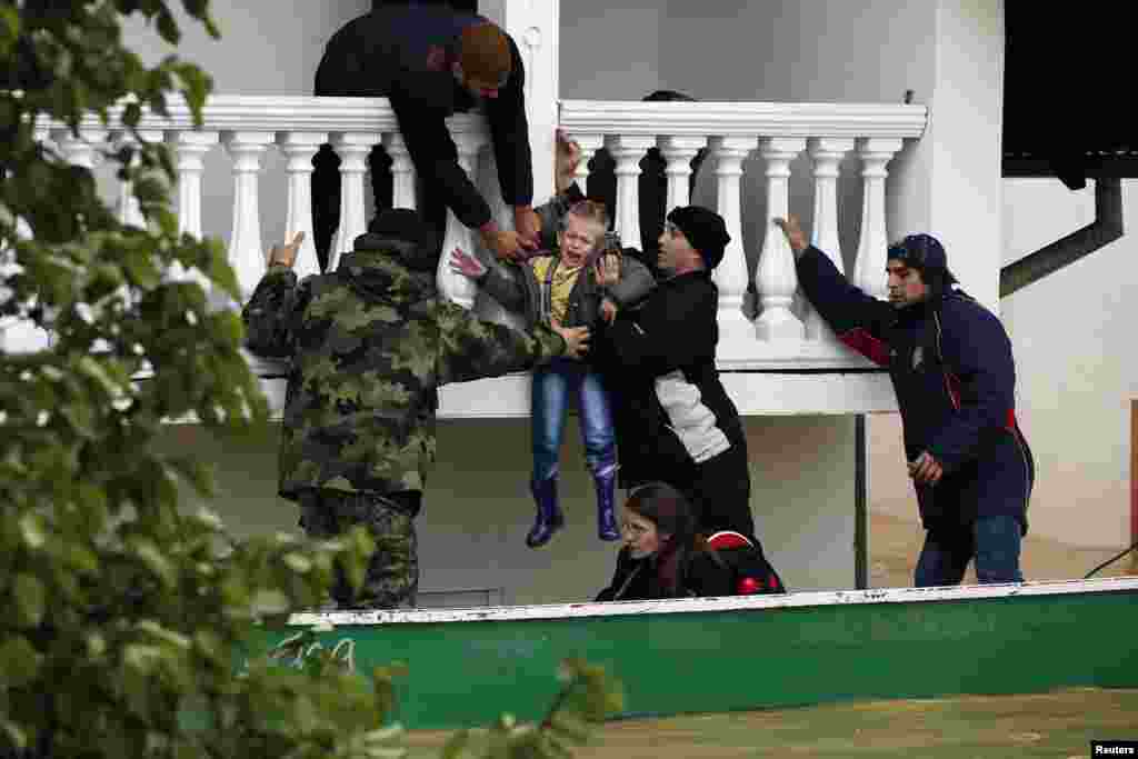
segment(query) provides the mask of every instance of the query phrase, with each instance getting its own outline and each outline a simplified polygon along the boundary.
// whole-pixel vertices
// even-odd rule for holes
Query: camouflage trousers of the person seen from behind
[[[410,496],[410,497],[402,497]],[[303,490],[297,498],[300,527],[320,541],[336,538],[355,526],[368,529],[376,542],[363,587],[353,594],[343,569],[336,567],[332,600],[340,609],[398,609],[415,605],[419,589],[419,546],[415,515],[420,494]]]

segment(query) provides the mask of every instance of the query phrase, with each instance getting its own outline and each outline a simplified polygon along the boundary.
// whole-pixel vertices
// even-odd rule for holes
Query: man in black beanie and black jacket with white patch
[[[701,533],[734,530],[761,552],[747,437],[715,358],[719,290],[711,271],[729,241],[712,211],[668,214],[659,240],[663,279],[604,330],[596,358],[613,388],[621,485],[668,482],[695,505]]]

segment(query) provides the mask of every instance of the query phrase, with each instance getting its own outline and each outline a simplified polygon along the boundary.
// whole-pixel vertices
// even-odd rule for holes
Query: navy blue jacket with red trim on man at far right
[[[905,308],[853,287],[820,250],[797,263],[807,298],[847,345],[889,368],[905,453],[945,468],[917,486],[925,527],[1008,514],[1026,531],[1034,462],[1015,420],[1015,364],[1000,321],[951,290]]]

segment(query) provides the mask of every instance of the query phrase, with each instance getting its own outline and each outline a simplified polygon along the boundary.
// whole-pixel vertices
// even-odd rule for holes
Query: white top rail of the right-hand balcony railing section
[[[586,134],[918,138],[927,109],[846,102],[562,100],[561,129]]]

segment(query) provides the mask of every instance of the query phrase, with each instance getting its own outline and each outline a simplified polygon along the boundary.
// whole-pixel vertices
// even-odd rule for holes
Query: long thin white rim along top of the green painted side
[[[1087,593],[1138,592],[1138,577],[1111,577],[1096,580],[1024,583],[1022,585],[968,585],[935,588],[881,588],[873,591],[833,591],[790,593],[787,595],[724,596],[719,599],[678,599],[670,601],[627,601],[617,603],[569,603],[486,609],[445,609],[415,611],[333,611],[303,612],[289,618],[290,625],[310,626],[393,625],[439,622],[525,621],[538,619],[580,619],[627,617],[648,613],[698,613],[745,611],[752,609],[795,609],[808,607],[857,605],[873,603],[923,603],[932,601],[975,601],[1014,596],[1063,596]]]

